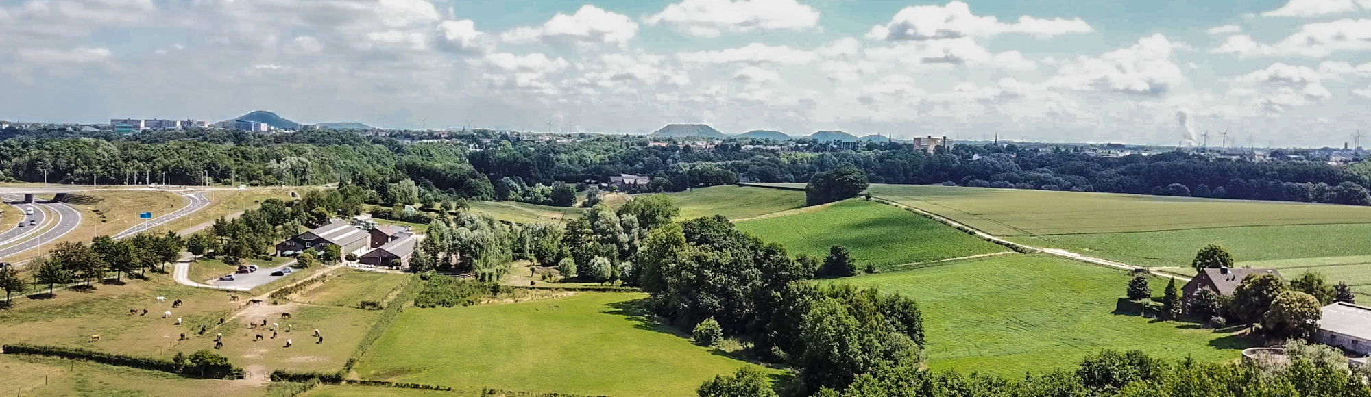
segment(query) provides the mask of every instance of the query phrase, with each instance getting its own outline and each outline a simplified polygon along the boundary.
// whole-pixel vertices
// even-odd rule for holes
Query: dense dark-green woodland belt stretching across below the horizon
[[[558,137],[563,141],[477,130],[437,142],[413,142],[435,137],[222,130],[118,136],[7,129],[0,130],[0,138],[5,138],[0,142],[0,179],[99,185],[347,181],[369,190],[369,201],[389,204],[462,197],[570,205],[566,189],[554,189],[557,182],[579,185],[636,174],[651,177],[643,190],[676,192],[739,181],[809,182],[818,172],[853,166],[871,183],[1371,204],[1366,188],[1371,185],[1371,167],[1285,156],[1272,156],[1278,159],[1272,162],[1211,159],[1190,152],[1097,157],[1079,148],[1016,145],[956,145],[927,153],[908,144],[814,141],[792,141],[803,146],[783,152],[743,151],[744,144],[766,144],[749,140],[696,149],[650,146],[642,136]]]

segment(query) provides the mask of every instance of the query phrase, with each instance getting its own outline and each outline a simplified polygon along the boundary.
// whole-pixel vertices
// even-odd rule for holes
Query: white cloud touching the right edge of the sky
[[[1371,19],[1339,19],[1333,22],[1308,23],[1300,31],[1278,41],[1261,44],[1252,37],[1230,36],[1219,48],[1209,52],[1250,56],[1307,56],[1324,57],[1339,51],[1371,49]]]

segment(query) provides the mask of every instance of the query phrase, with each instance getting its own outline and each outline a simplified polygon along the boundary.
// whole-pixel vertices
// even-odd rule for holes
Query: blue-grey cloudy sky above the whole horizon
[[[0,0],[0,93],[21,122],[1341,146],[1371,140],[1371,0]]]

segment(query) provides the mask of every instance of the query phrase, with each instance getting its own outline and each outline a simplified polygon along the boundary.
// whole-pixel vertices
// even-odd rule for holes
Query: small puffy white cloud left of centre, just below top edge
[[[625,15],[600,10],[595,5],[581,5],[576,14],[558,12],[543,26],[518,27],[500,34],[506,42],[529,44],[536,41],[550,44],[618,44],[625,45],[638,34],[638,23]]]

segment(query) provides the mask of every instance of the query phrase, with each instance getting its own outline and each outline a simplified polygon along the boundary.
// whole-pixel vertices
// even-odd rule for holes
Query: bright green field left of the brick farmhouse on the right
[[[1042,255],[1005,255],[835,282],[914,297],[934,370],[1069,370],[1100,349],[1154,357],[1231,360],[1249,348],[1235,335],[1119,312],[1128,275]],[[1165,279],[1152,290],[1160,297]]]

